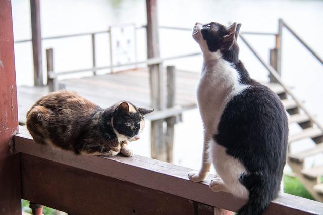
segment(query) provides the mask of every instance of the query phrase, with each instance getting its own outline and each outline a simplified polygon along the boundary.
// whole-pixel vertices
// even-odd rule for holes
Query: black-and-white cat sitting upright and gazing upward
[[[257,215],[280,189],[288,121],[278,96],[251,79],[239,60],[240,27],[211,22],[193,28],[204,58],[197,89],[204,147],[201,169],[188,178],[202,181],[212,160],[217,177],[209,187],[248,198],[238,214]]]

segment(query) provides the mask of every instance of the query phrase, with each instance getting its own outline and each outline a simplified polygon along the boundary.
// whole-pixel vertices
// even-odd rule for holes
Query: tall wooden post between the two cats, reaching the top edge
[[[146,0],[147,8],[147,55],[149,58],[160,57],[157,0]],[[155,110],[163,109],[163,67],[161,64],[149,66],[151,106]],[[163,134],[164,120],[151,122],[151,157],[167,160],[167,149]]]

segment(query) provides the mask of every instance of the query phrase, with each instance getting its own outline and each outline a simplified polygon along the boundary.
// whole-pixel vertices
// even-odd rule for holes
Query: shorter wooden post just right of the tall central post
[[[175,67],[167,66],[167,108],[172,108],[175,105]],[[166,118],[166,149],[167,149],[167,162],[173,162],[173,143],[174,143],[174,126],[176,124],[176,117]]]

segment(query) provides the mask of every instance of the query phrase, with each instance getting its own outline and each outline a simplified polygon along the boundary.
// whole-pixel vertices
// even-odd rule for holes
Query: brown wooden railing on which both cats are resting
[[[15,135],[22,198],[70,214],[214,214],[245,202],[212,192],[210,175],[187,179],[191,169],[141,156],[101,157],[36,144],[25,127]],[[216,211],[219,209],[216,209]],[[281,194],[265,214],[322,214],[323,203]]]

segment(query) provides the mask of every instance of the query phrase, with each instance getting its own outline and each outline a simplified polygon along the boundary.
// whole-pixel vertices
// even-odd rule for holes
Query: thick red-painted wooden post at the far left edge
[[[0,10],[0,213],[21,215],[20,155],[12,153],[18,106],[11,1],[0,1]]]

